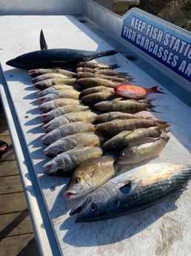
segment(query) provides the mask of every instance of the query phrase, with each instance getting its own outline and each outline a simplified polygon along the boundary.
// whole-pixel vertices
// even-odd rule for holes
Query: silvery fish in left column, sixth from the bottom
[[[70,99],[70,98],[62,98],[62,99],[52,99],[49,102],[44,102],[39,105],[39,109],[47,113],[48,111],[52,111],[54,108],[63,107],[67,105],[80,105],[81,102],[78,99]]]

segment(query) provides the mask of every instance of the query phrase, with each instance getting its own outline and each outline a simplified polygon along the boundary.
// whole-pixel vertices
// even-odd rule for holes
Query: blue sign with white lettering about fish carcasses
[[[121,37],[191,82],[191,35],[188,38],[130,13],[124,19]]]

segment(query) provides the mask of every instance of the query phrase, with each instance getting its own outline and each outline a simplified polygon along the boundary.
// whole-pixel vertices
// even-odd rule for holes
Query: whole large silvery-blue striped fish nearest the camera
[[[70,215],[76,222],[106,220],[153,206],[187,184],[191,165],[153,163],[141,165],[107,181],[81,200]]]

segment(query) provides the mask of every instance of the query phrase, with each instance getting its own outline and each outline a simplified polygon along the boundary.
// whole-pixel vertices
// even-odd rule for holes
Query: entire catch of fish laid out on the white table
[[[47,50],[42,31],[40,42],[41,50],[7,65],[30,69],[32,82],[41,90],[42,142],[47,145],[44,154],[52,158],[45,172],[71,177],[64,196],[81,197],[70,211],[78,214],[76,222],[130,214],[184,188],[191,166],[141,165],[170,140],[167,122],[147,115],[155,111],[147,95],[164,92],[130,85],[133,78],[115,71],[118,65],[90,61],[118,50]]]

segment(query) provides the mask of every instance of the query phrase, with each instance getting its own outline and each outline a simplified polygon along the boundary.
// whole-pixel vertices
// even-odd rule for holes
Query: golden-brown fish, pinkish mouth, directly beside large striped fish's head
[[[97,157],[78,165],[73,172],[64,196],[73,200],[89,194],[118,173],[113,157]]]

